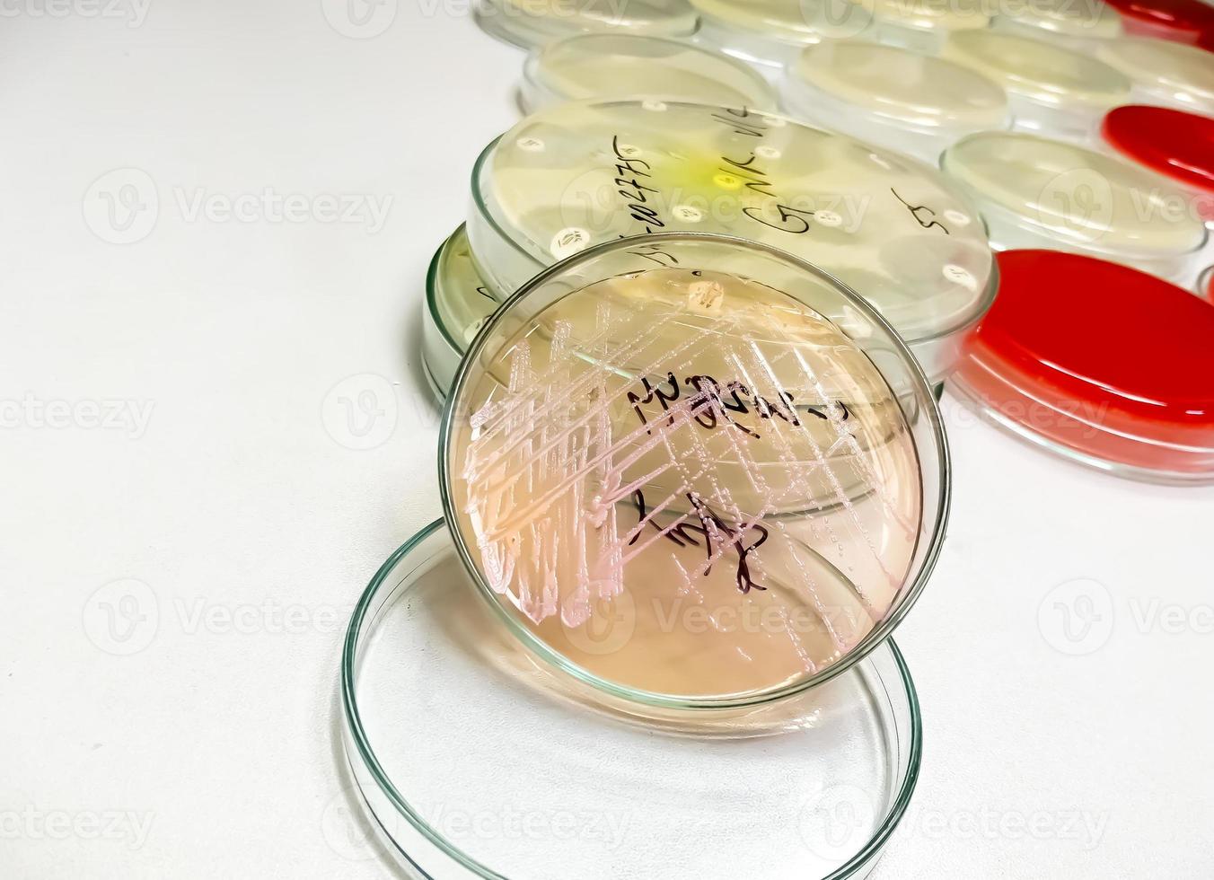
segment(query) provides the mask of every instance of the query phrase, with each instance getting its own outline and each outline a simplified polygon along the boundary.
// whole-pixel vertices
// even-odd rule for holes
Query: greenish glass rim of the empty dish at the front
[[[408,558],[412,552],[416,551],[427,539],[435,535],[436,532],[446,528],[448,528],[446,520],[438,518],[414,533],[408,540],[398,546],[387,557],[387,560],[385,560],[358,597],[358,602],[351,613],[350,623],[346,625],[341,649],[339,686],[341,691],[340,700],[342,722],[346,734],[342,737],[342,744],[345,746],[347,761],[353,765],[354,755],[351,754],[350,748],[351,742],[353,743],[354,751],[357,751],[362,765],[370,773],[375,787],[388,799],[396,813],[403,817],[405,822],[408,822],[409,825],[421,834],[430,844],[436,846],[443,855],[456,862],[460,867],[472,872],[484,880],[506,880],[504,875],[492,870],[487,865],[481,864],[478,861],[473,859],[471,856],[455,846],[452,841],[447,840],[447,838],[438,829],[426,822],[420,811],[414,807],[399,791],[380,762],[375,746],[371,744],[370,734],[364,725],[363,715],[358,704],[358,671],[364,629],[374,628],[378,623],[379,612],[390,606],[393,601],[396,589],[398,589],[404,580],[402,579],[399,584],[397,584],[397,587],[392,587],[392,594],[382,596],[382,598],[380,597],[380,594],[386,586],[392,586],[388,578],[396,570],[397,566]],[[853,856],[851,856],[843,865],[836,868],[829,875],[823,878],[823,880],[847,880],[849,878],[855,878],[858,872],[868,868],[873,859],[881,855],[881,851],[889,842],[890,836],[904,818],[910,804],[910,797],[914,794],[919,780],[919,773],[923,763],[923,714],[919,704],[919,693],[915,688],[914,680],[910,676],[910,670],[907,666],[906,658],[902,655],[902,652],[894,638],[886,638],[877,647],[887,648],[898,672],[898,682],[901,683],[906,696],[907,703],[904,712],[897,712],[894,710],[897,715],[906,715],[910,732],[909,748],[904,761],[906,773],[897,788],[896,795],[890,802],[889,808],[885,811],[885,816],[873,834],[864,841],[864,845]],[[885,681],[879,672],[878,677],[883,682]],[[892,683],[894,682],[891,681],[890,685]],[[357,787],[362,789],[363,783],[357,779],[356,782]],[[414,861],[413,856],[404,851],[403,846],[391,834],[391,830],[384,827],[381,817],[375,814],[374,807],[367,802],[365,794],[359,791],[359,796],[364,804],[367,804],[367,807],[371,810],[380,830],[391,840],[393,848],[401,852],[401,855],[404,856],[404,858],[416,870],[419,870],[424,878],[429,879],[431,875]]]

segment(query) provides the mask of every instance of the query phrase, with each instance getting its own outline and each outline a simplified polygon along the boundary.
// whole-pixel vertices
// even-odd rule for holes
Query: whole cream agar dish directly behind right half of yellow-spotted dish
[[[788,70],[784,106],[811,125],[936,165],[976,131],[1010,125],[1008,96],[949,61],[862,40],[805,50]]]

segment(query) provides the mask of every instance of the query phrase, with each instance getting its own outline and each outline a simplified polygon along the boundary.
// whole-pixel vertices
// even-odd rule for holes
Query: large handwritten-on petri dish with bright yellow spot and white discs
[[[998,284],[980,218],[934,169],[753,110],[561,104],[482,153],[472,194],[472,255],[497,290],[623,235],[737,234],[861,291],[935,381]]]

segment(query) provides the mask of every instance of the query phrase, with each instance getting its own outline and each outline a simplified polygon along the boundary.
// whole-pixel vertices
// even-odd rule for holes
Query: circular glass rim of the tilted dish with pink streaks
[[[448,461],[448,452],[453,443],[453,428],[456,418],[455,408],[456,404],[461,402],[461,392],[471,381],[471,377],[473,376],[473,368],[477,364],[481,351],[484,344],[489,340],[495,325],[509,317],[516,303],[529,296],[533,291],[541,289],[552,278],[557,278],[562,273],[568,272],[571,268],[590,262],[603,254],[622,250],[626,246],[635,246],[639,243],[648,245],[679,240],[699,243],[707,242],[736,249],[750,249],[762,255],[773,256],[777,260],[785,261],[798,271],[809,273],[833,286],[836,293],[841,294],[844,299],[849,301],[849,307],[856,308],[861,314],[863,314],[864,318],[873,322],[880,330],[883,330],[886,334],[887,340],[894,345],[898,360],[906,369],[908,369],[912,380],[915,382],[915,387],[906,390],[906,393],[913,393],[914,391],[919,392],[919,398],[924,404],[921,416],[926,420],[929,430],[931,431],[935,447],[934,450],[920,449],[918,443],[914,445],[915,455],[920,461],[919,472],[923,473],[924,470],[924,465],[921,464],[923,458],[929,455],[931,452],[935,452],[936,460],[934,466],[940,473],[940,487],[937,498],[935,499],[935,521],[931,523],[930,529],[924,524],[920,526],[921,530],[927,534],[929,541],[926,549],[924,550],[923,561],[919,564],[918,570],[913,568],[908,570],[907,577],[903,579],[903,583],[897,592],[897,598],[894,601],[885,617],[874,624],[873,629],[869,630],[864,637],[860,640],[860,642],[824,669],[799,677],[792,683],[767,688],[753,694],[728,694],[725,697],[674,697],[617,685],[579,666],[510,614],[501,598],[493,592],[486,583],[480,566],[477,566],[473,560],[472,549],[469,547],[463,529],[456,521],[456,511],[453,510],[453,475]],[[884,379],[884,371],[878,368],[878,373],[880,373]],[[931,579],[931,574],[940,561],[944,533],[948,528],[952,496],[952,460],[948,438],[944,432],[943,418],[940,413],[940,407],[937,405],[936,397],[932,393],[931,387],[930,380],[924,373],[918,359],[915,359],[914,354],[912,354],[907,342],[898,335],[897,330],[894,329],[889,320],[880,314],[880,312],[878,312],[872,305],[868,303],[867,300],[864,300],[864,297],[844,284],[841,280],[793,254],[761,242],[751,242],[737,235],[710,232],[660,232],[612,239],[609,242],[603,242],[586,248],[585,250],[573,254],[572,256],[549,266],[529,282],[520,286],[518,290],[516,290],[498,308],[497,312],[494,312],[494,314],[481,328],[480,333],[477,333],[476,337],[469,344],[467,351],[460,360],[459,370],[452,381],[450,391],[447,394],[438,430],[438,489],[442,496],[443,518],[452,533],[452,540],[455,544],[460,561],[481,596],[493,607],[498,618],[518,640],[521,640],[534,654],[543,658],[545,663],[557,670],[590,685],[608,697],[629,700],[654,709],[710,711],[714,709],[738,709],[773,703],[823,685],[862,660],[883,641],[885,641],[895,629],[897,629],[910,608],[914,607],[915,602],[923,594],[924,587],[927,585],[927,581]]]

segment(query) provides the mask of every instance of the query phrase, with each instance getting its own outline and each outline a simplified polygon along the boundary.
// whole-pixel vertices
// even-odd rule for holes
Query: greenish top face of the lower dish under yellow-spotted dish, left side
[[[463,225],[443,242],[426,273],[426,308],[443,339],[458,352],[480,333],[498,301],[472,262]]]

